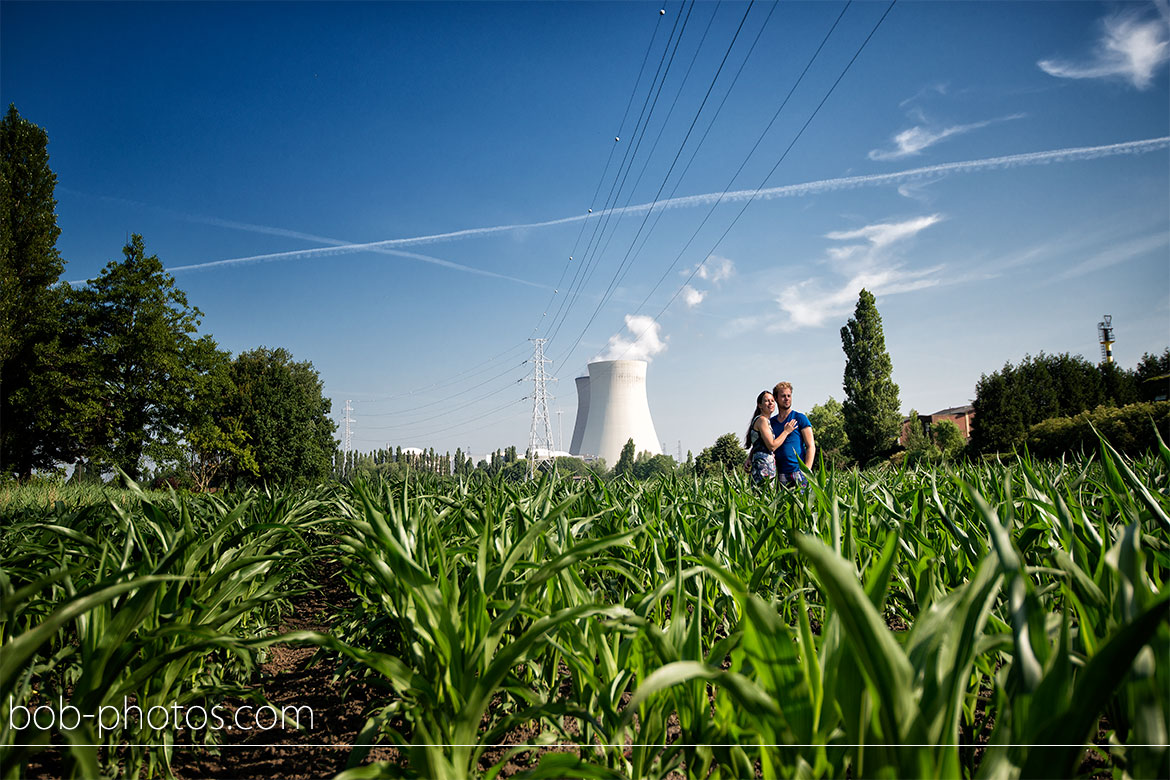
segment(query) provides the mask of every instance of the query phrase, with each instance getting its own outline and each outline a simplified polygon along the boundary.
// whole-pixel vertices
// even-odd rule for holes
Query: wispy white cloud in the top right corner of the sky
[[[1164,6],[1164,4],[1163,4]],[[1135,13],[1120,13],[1102,21],[1102,34],[1086,62],[1040,60],[1040,70],[1058,78],[1121,77],[1137,89],[1154,83],[1154,73],[1170,61],[1170,41],[1164,7],[1162,19],[1141,19]]]

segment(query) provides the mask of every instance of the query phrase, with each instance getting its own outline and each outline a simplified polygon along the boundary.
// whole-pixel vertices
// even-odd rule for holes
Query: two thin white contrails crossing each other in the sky
[[[436,233],[433,235],[414,236],[411,239],[388,239],[385,241],[371,241],[369,243],[346,243],[335,239],[314,236],[304,233],[297,233],[295,230],[285,230],[283,228],[271,228],[261,225],[248,225],[246,222],[233,222],[230,220],[221,220],[216,218],[193,218],[185,215],[185,219],[190,219],[192,221],[206,222],[209,225],[218,225],[221,227],[248,230],[253,233],[267,233],[273,235],[284,235],[290,237],[305,239],[309,241],[317,241],[321,243],[329,243],[332,246],[321,247],[317,249],[295,249],[291,251],[277,251],[267,255],[252,255],[248,257],[232,257],[228,260],[215,260],[206,263],[193,263],[190,265],[176,265],[173,268],[168,268],[167,270],[193,271],[205,268],[241,265],[245,263],[271,262],[276,260],[330,256],[330,255],[349,254],[355,251],[379,251],[384,254],[393,254],[402,257],[410,257],[412,260],[420,260],[422,262],[434,263],[436,265],[443,265],[446,268],[453,268],[455,270],[462,270],[470,274],[480,274],[483,276],[509,279],[511,282],[518,282],[521,284],[528,284],[530,287],[546,287],[543,284],[528,282],[525,279],[519,279],[512,276],[505,276],[503,274],[486,271],[479,268],[472,268],[469,265],[461,265],[459,263],[453,263],[450,261],[440,260],[439,257],[431,257],[428,255],[418,255],[414,253],[401,251],[394,248],[426,244],[426,243],[438,243],[441,241],[457,241],[461,239],[474,239],[479,236],[491,235],[495,233],[508,233],[512,230],[546,228],[557,225],[567,225],[571,222],[580,222],[583,220],[597,219],[600,216],[605,216],[606,214],[634,214],[634,213],[648,212],[652,209],[688,208],[694,206],[709,206],[714,202],[736,202],[750,199],[772,200],[775,198],[800,198],[804,195],[812,195],[817,193],[834,192],[838,189],[852,189],[855,187],[867,187],[872,185],[892,184],[896,181],[904,181],[907,179],[923,179],[929,177],[944,175],[948,173],[971,173],[975,171],[993,171],[1000,168],[1021,167],[1026,165],[1046,165],[1049,163],[1073,163],[1080,160],[1095,160],[1102,157],[1116,157],[1119,154],[1145,154],[1148,152],[1166,147],[1170,147],[1170,136],[1162,138],[1148,138],[1145,140],[1133,140],[1121,144],[1106,144],[1103,146],[1078,146],[1071,149],[1058,149],[1047,152],[1026,152],[1024,154],[1009,154],[1006,157],[989,157],[982,160],[942,163],[940,165],[928,165],[924,167],[910,168],[908,171],[899,171],[896,173],[874,173],[868,175],[823,179],[820,181],[805,181],[801,184],[784,185],[782,187],[768,187],[763,189],[738,189],[735,192],[725,192],[725,193],[706,193],[701,195],[686,195],[682,198],[670,198],[668,200],[661,200],[653,203],[639,203],[636,206],[626,206],[622,208],[598,210],[591,214],[564,216],[557,220],[548,220],[544,222],[524,222],[519,225],[500,225],[496,227],[488,227],[488,228],[468,228],[466,230],[453,230],[450,233]]]

